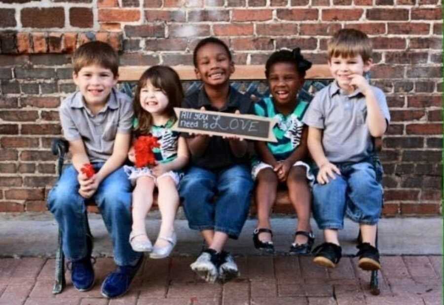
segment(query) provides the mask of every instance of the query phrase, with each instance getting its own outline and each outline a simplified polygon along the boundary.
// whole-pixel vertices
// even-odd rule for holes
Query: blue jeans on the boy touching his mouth
[[[359,224],[376,224],[382,210],[381,168],[371,160],[335,165],[341,175],[313,186],[313,217],[319,229],[343,229],[345,215]]]

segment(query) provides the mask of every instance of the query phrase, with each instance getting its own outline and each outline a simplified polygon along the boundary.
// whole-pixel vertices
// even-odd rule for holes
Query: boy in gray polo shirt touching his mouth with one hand
[[[328,43],[328,65],[334,78],[319,91],[303,118],[308,149],[316,162],[313,216],[325,243],[314,249],[313,262],[335,267],[341,258],[338,229],[344,216],[359,223],[362,243],[358,265],[377,270],[376,224],[382,209],[382,186],[376,178],[372,137],[387,129],[390,114],[384,93],[363,76],[370,71],[371,41],[354,30],[338,31]]]

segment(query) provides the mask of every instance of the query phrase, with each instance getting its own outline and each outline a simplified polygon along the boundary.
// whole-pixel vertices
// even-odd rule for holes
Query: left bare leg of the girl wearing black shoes
[[[258,225],[256,228],[271,229],[270,210],[276,200],[277,177],[271,168],[264,168],[259,171],[258,186],[256,187],[256,204],[258,208]],[[260,241],[271,241],[271,234],[268,232],[259,233]]]

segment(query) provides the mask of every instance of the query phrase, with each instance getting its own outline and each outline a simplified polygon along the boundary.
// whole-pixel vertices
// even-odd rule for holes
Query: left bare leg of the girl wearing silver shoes
[[[139,177],[136,180],[136,187],[133,191],[131,227],[133,234],[142,234],[134,237],[138,241],[147,241],[147,230],[145,228],[145,218],[152,205],[152,192],[154,190],[154,180],[150,177]]]

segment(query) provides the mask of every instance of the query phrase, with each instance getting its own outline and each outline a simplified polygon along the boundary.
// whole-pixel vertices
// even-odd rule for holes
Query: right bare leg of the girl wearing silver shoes
[[[176,183],[169,176],[157,179],[157,188],[159,190],[157,202],[162,218],[158,236],[169,238],[174,232],[174,219],[179,206],[179,194]],[[165,239],[157,238],[155,246],[165,247],[168,244],[169,242]]]

